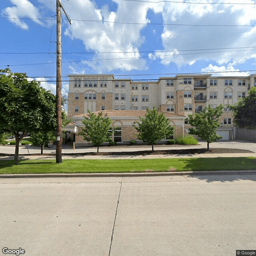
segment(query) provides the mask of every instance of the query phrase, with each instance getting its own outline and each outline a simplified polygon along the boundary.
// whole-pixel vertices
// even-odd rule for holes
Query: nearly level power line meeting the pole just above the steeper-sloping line
[[[185,50],[158,50],[157,52],[189,52],[189,51],[205,51],[205,50],[228,50],[228,49],[250,49],[256,46],[244,47],[227,47],[227,48],[206,48],[206,49],[185,49]],[[254,50],[254,49],[252,49]],[[62,54],[116,54],[116,53],[150,53],[152,51],[138,51],[138,52],[62,52]],[[56,54],[56,52],[0,52],[0,54]]]

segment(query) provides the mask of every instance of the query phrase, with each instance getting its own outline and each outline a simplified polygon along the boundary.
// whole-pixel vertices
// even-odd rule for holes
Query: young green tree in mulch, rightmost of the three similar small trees
[[[207,142],[207,150],[209,151],[209,144],[215,140],[219,140],[222,136],[216,134],[217,129],[220,127],[219,118],[223,113],[223,105],[220,104],[216,108],[210,105],[205,107],[204,110],[198,114],[188,115],[185,120],[195,128],[189,128],[188,134],[197,135],[202,140]]]

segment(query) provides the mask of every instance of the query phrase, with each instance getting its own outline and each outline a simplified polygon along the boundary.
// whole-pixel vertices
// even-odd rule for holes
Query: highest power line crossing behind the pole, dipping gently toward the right
[[[8,18],[0,17],[0,19],[14,19],[14,20],[52,20],[48,18]],[[175,24],[175,23],[136,23],[136,22],[117,22],[107,20],[78,20],[73,21],[85,21],[85,22],[102,22],[102,23],[114,23],[114,24],[128,24],[128,25],[161,25],[161,26],[190,26],[190,27],[254,27],[256,25],[223,25],[223,24]]]

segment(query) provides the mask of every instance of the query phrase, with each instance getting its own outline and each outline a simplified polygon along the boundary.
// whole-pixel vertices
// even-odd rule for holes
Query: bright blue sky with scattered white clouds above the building
[[[62,76],[103,73],[153,80],[165,74],[256,73],[255,1],[61,2],[72,20],[70,25],[62,15]],[[53,93],[55,15],[56,0],[1,1],[0,68],[26,72]],[[67,94],[68,79],[63,80]]]

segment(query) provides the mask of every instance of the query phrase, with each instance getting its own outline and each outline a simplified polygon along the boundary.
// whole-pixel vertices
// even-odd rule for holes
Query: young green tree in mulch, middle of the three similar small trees
[[[164,113],[159,113],[154,106],[153,109],[147,109],[146,116],[140,117],[140,122],[136,121],[137,125],[132,126],[139,132],[137,137],[144,143],[152,145],[154,151],[154,144],[173,134],[173,126],[170,125],[168,118]]]

